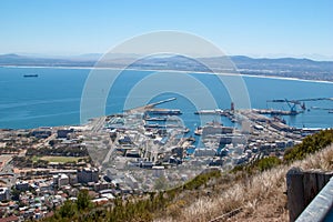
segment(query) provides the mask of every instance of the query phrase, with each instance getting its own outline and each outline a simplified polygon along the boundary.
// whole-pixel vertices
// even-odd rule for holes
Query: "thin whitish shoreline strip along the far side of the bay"
[[[40,65],[0,65],[0,68],[33,68],[33,69],[77,69],[77,70],[124,70],[120,68],[103,68],[103,67],[40,67]],[[279,75],[266,75],[266,74],[243,74],[243,73],[226,73],[226,72],[203,72],[203,71],[185,71],[185,70],[158,70],[158,69],[133,69],[127,68],[125,70],[131,71],[152,71],[152,72],[175,72],[175,73],[189,73],[189,74],[218,74],[218,75],[240,75],[240,77],[250,77],[250,78],[265,78],[265,79],[278,79],[278,80],[292,80],[292,81],[302,81],[302,82],[316,82],[316,83],[329,83],[333,84],[333,81],[329,80],[311,80],[302,78],[292,78],[292,77],[279,77]]]

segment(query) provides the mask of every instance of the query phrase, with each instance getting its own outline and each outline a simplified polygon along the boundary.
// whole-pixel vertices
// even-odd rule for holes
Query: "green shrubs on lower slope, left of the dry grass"
[[[46,221],[152,221],[154,215],[161,214],[181,192],[199,190],[210,180],[219,176],[221,176],[219,170],[206,171],[182,186],[151,192],[140,199],[117,198],[109,206],[92,208],[88,192],[81,191],[78,201],[65,201],[56,210],[54,215]]]

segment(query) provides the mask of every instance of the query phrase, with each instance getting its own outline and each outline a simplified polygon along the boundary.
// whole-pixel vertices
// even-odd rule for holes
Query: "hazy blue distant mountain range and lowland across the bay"
[[[75,57],[48,57],[2,54],[0,65],[27,67],[85,67],[92,68],[102,54],[82,54]],[[139,54],[108,54],[98,62],[98,67],[131,68],[142,70],[179,70],[179,71],[216,71],[240,72],[253,75],[274,75],[307,80],[333,81],[333,61],[314,61],[310,59],[281,58],[254,59],[244,56],[212,57],[190,59],[182,56],[148,57]],[[230,65],[230,60],[234,65]],[[128,67],[128,64],[130,64]],[[228,64],[228,65],[225,65]]]

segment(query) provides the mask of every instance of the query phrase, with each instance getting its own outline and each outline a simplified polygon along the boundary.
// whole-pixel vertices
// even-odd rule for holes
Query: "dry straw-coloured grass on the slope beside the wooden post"
[[[157,221],[210,221],[235,209],[241,212],[218,221],[287,221],[285,174],[292,167],[304,170],[333,170],[333,145],[291,165],[281,165],[245,179],[221,183],[216,181],[212,195],[193,193],[180,196],[167,209],[168,215]],[[220,183],[220,184],[219,184]]]

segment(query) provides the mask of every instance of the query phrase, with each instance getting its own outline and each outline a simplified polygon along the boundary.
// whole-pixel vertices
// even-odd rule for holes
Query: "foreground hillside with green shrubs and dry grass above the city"
[[[285,174],[292,167],[333,170],[333,130],[307,137],[283,161],[271,157],[182,186],[84,208],[67,202],[46,221],[287,221]],[[80,208],[79,208],[80,206]],[[81,210],[80,210],[81,209]],[[69,212],[69,213],[68,213]]]

